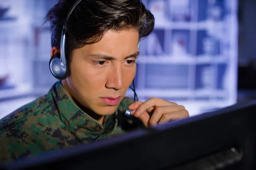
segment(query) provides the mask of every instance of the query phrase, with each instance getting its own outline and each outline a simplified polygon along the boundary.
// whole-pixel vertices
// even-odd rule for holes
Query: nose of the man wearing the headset
[[[120,90],[124,87],[124,77],[122,65],[114,65],[111,71],[108,73],[108,80],[106,82],[106,88],[113,88],[114,90]]]

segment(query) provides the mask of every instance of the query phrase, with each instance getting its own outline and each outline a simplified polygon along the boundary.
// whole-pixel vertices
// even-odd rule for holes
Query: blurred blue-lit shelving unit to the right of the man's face
[[[135,81],[140,100],[155,96],[185,103],[193,106],[192,114],[236,103],[237,1],[143,3],[156,22],[151,35],[140,42]],[[175,8],[190,11],[189,17],[177,19]],[[211,10],[215,13],[207,16]]]

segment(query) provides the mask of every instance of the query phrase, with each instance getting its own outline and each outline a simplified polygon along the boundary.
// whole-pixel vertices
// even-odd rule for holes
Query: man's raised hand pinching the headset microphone
[[[156,97],[152,97],[145,102],[134,102],[128,106],[128,109],[132,110],[131,115],[138,117],[145,127],[189,116],[184,106]],[[147,112],[153,113],[152,116],[150,117]]]

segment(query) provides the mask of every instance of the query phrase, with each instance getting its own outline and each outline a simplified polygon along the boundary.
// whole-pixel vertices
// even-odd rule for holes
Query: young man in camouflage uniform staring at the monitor
[[[59,56],[64,49],[66,77],[54,74],[61,81],[48,94],[0,121],[2,163],[125,133],[129,123],[118,118],[125,117],[126,109],[144,127],[188,116],[183,106],[173,102],[154,97],[134,102],[125,97],[136,73],[138,43],[154,28],[154,17],[143,3],[80,1],[72,14],[69,11],[76,0],[60,0],[47,13],[51,56]],[[63,26],[65,48],[61,47]]]

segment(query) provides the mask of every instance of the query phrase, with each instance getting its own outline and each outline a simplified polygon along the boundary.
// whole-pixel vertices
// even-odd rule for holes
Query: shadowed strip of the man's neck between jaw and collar
[[[82,110],[84,111],[85,113],[87,113],[89,116],[91,116],[93,119],[95,119],[97,122],[99,122],[99,124],[103,125],[103,121],[104,121],[104,118],[105,116],[102,116],[102,115],[99,115],[95,112],[93,112],[92,110],[90,110],[89,108],[86,108],[84,105],[82,105],[77,99],[76,97],[74,97],[72,94],[70,94],[70,88],[69,86],[67,85],[67,83],[62,80],[61,81],[61,84],[63,85],[64,87],[64,90],[66,91],[66,94],[67,96],[70,97],[70,99],[72,99],[73,102],[76,103],[76,105]]]

